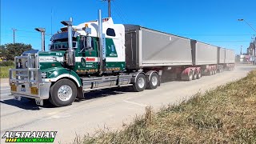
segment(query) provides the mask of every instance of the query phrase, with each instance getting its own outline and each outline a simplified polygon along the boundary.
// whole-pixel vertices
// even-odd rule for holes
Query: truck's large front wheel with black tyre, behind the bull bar
[[[69,79],[61,79],[50,87],[49,101],[54,106],[68,106],[77,96],[77,86]]]

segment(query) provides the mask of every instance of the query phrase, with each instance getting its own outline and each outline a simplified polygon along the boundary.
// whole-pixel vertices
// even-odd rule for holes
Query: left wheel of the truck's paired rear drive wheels
[[[135,81],[133,85],[134,91],[140,92],[146,89],[146,77],[144,74],[138,74]]]

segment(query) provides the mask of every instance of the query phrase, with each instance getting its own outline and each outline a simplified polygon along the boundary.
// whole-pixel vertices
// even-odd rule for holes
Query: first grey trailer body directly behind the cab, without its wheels
[[[137,25],[126,28],[126,68],[192,66],[189,38],[150,30]]]

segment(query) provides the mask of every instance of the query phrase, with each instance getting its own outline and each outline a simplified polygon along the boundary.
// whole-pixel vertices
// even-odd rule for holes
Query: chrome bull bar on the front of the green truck
[[[15,69],[10,69],[10,93],[20,100],[34,98],[38,105],[49,98],[50,82],[42,82],[38,53],[23,54],[14,58]]]

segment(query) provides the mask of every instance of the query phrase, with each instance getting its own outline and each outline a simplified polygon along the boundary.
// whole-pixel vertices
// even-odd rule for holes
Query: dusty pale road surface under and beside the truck
[[[119,130],[131,122],[136,114],[144,114],[145,106],[158,110],[163,105],[181,102],[198,91],[204,92],[219,85],[246,76],[255,66],[236,66],[234,71],[205,76],[191,82],[170,81],[156,90],[132,92],[129,87],[98,90],[86,94],[86,100],[71,106],[54,108],[36,106],[10,96],[10,86],[1,87],[1,137],[7,130],[54,130],[58,131],[55,142],[73,142],[75,136],[94,134],[97,130]],[[3,139],[1,139],[3,142]]]

